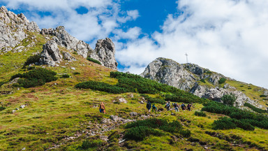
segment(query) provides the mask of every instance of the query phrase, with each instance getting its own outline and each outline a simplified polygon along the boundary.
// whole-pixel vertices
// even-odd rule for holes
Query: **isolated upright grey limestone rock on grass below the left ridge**
[[[43,45],[43,51],[40,55],[40,64],[48,64],[49,66],[55,66],[56,62],[60,62],[62,56],[60,55],[58,45],[55,41],[47,41]]]

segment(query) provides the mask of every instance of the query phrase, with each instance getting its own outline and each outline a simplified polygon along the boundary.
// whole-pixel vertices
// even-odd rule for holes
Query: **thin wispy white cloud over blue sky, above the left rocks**
[[[98,38],[109,36],[121,23],[135,20],[137,10],[120,10],[112,0],[3,0],[8,8],[29,10],[25,15],[40,28],[64,26],[72,36],[96,43]],[[78,14],[75,9],[84,7],[87,13]],[[43,15],[43,13],[47,13]],[[121,32],[124,34],[124,32]]]

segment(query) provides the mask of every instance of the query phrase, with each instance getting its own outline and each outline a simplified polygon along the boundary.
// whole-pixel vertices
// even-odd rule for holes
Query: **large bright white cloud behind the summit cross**
[[[122,46],[119,62],[135,73],[156,57],[191,63],[268,87],[268,1],[180,0],[183,15],[168,15],[163,32]],[[156,42],[156,43],[155,43]],[[127,69],[124,69],[125,71]]]

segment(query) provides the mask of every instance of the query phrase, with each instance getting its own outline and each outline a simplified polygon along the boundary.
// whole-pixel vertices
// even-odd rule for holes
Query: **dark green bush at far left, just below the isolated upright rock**
[[[13,80],[14,78],[21,78],[17,82],[21,87],[28,88],[44,85],[46,82],[57,80],[57,77],[54,75],[57,75],[57,73],[54,71],[38,68],[23,74],[17,73],[13,75],[10,80]]]

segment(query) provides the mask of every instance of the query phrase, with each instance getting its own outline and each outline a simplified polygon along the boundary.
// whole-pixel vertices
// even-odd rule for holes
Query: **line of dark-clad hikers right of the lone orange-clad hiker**
[[[174,107],[175,112],[179,112],[179,104],[172,103],[172,106]],[[190,111],[192,106],[193,106],[193,103],[188,103],[187,106],[184,103],[182,103],[181,104],[181,110],[186,110],[186,108],[187,108]],[[157,108],[156,108],[156,106],[154,104],[153,104],[153,106],[151,106],[150,101],[147,101],[146,108],[148,109],[149,112],[151,112],[151,108],[152,108],[153,112],[156,112],[156,110],[157,110]],[[167,110],[170,110],[170,108],[171,108],[170,101],[167,101],[167,103],[165,104],[165,108]]]

